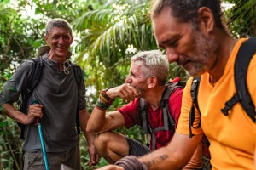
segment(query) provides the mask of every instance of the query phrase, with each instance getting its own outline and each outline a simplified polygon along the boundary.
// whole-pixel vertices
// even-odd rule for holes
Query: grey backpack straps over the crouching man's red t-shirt
[[[152,129],[150,124],[148,123],[148,108],[145,99],[140,98],[138,104],[138,112],[140,120],[143,124],[143,133],[150,134],[152,139],[152,150],[155,150],[156,137],[155,133],[159,131],[167,131],[167,130],[175,130],[175,122],[169,111],[169,98],[172,94],[172,91],[176,88],[184,88],[186,82],[168,82],[166,83],[166,89],[162,95],[162,99],[160,101],[160,107],[163,110],[164,117],[164,126],[157,127]]]

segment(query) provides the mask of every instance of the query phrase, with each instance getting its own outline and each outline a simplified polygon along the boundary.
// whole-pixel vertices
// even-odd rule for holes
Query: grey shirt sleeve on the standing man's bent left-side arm
[[[18,101],[21,92],[26,89],[27,82],[30,82],[32,77],[32,66],[34,62],[27,59],[16,69],[13,76],[3,85],[0,93],[0,105],[9,103],[13,104]]]

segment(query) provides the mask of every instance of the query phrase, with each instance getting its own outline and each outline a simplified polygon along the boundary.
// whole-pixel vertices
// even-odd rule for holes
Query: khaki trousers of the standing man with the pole
[[[25,152],[24,170],[44,170],[44,157],[42,151]],[[47,152],[50,170],[59,170],[65,164],[75,170],[81,169],[79,145],[63,152]]]

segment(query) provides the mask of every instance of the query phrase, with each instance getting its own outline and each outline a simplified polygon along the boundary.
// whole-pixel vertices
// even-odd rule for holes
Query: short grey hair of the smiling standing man
[[[63,20],[63,19],[49,20],[49,22],[46,25],[46,31],[45,31],[46,36],[49,36],[49,32],[55,27],[67,29],[70,35],[72,36],[72,29],[70,24],[67,22],[67,20]]]

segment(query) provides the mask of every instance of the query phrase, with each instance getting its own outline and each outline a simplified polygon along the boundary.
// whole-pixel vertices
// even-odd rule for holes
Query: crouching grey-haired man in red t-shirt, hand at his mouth
[[[96,150],[109,163],[128,155],[143,156],[172,140],[180,115],[184,85],[182,82],[166,84],[168,71],[166,56],[159,50],[140,52],[131,58],[126,83],[101,91],[87,131],[97,134]],[[131,103],[106,115],[106,110],[117,97]],[[150,149],[137,140],[111,131],[135,125],[143,127],[144,133],[151,134]],[[201,144],[197,148],[186,166],[188,169],[202,168]]]

